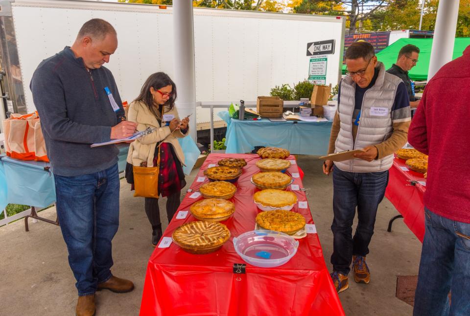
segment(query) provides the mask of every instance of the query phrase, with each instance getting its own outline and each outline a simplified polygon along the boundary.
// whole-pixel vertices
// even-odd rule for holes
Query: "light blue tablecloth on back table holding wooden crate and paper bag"
[[[291,154],[323,156],[327,154],[331,122],[271,122],[237,120],[228,112],[218,114],[227,122],[226,153],[243,154],[255,146],[285,148]]]

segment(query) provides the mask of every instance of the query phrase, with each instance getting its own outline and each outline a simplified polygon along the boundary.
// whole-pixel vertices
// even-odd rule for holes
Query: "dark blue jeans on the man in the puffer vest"
[[[385,195],[388,171],[347,172],[333,168],[333,271],[348,275],[352,255],[365,256],[374,234],[378,204]],[[352,237],[352,221],[358,223]]]

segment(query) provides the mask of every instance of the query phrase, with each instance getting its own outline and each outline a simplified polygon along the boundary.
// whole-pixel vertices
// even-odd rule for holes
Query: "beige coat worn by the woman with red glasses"
[[[175,118],[178,120],[180,119],[176,108],[173,108],[173,110],[170,111],[168,110],[168,107],[165,106],[164,114],[173,114]],[[181,149],[177,137],[183,138],[188,135],[189,128],[186,134],[181,133],[180,130],[176,130],[171,133],[170,128],[168,126],[164,126],[164,123],[162,123],[162,126],[158,125],[157,118],[150,112],[148,107],[140,101],[132,102],[129,105],[127,119],[131,122],[138,123],[138,131],[143,131],[147,127],[159,127],[158,130],[150,135],[142,136],[131,143],[129,153],[127,154],[127,162],[131,163],[133,166],[140,166],[141,162],[146,161],[148,167],[153,167],[155,146],[158,142],[169,135],[164,142],[170,143],[173,146],[176,156],[180,160],[181,164],[184,165],[185,155],[183,154],[183,149]]]

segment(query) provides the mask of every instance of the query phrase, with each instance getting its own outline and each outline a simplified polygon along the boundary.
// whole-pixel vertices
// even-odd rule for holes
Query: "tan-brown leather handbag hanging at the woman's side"
[[[133,167],[134,196],[158,199],[158,174],[160,173],[160,148],[157,165],[154,167]]]

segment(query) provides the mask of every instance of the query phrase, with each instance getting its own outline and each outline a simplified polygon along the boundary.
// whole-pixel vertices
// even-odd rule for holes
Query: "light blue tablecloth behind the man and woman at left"
[[[189,175],[199,157],[199,149],[190,137],[178,138],[185,164],[183,171]],[[118,168],[123,172],[126,167],[128,144],[119,144]],[[45,171],[48,163],[24,161],[2,157],[0,161],[0,212],[8,203],[46,207],[55,203],[54,176]]]

